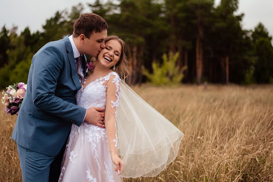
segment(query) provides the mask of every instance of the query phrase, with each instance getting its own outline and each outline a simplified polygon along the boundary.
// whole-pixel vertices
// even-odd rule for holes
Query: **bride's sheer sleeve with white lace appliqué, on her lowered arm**
[[[105,128],[108,138],[110,153],[117,153],[117,128],[116,117],[118,103],[121,96],[120,78],[118,75],[111,75],[107,83]]]

